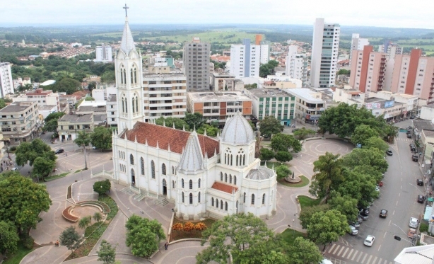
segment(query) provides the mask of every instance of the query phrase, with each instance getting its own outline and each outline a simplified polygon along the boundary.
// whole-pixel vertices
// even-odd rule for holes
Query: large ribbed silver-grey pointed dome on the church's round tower
[[[237,112],[226,121],[221,139],[229,144],[249,144],[254,140],[254,132],[245,117]]]

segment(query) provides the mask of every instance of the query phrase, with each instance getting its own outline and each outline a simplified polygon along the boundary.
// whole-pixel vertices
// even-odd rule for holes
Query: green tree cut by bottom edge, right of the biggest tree
[[[289,250],[290,264],[317,264],[322,260],[322,254],[312,241],[298,237]]]

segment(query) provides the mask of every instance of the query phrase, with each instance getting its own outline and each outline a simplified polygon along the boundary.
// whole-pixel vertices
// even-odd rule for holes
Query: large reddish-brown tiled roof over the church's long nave
[[[120,138],[124,139],[127,134],[127,139],[134,142],[137,138],[137,142],[145,144],[151,147],[158,147],[160,149],[168,149],[178,154],[182,154],[182,149],[187,144],[187,140],[190,132],[183,130],[175,130],[171,127],[163,127],[161,125],[154,125],[146,122],[136,122],[132,130],[127,130],[120,135]],[[219,153],[219,142],[211,137],[206,137],[202,134],[197,135],[199,137],[199,144],[201,145],[202,154],[208,154],[208,157],[214,156],[214,151]]]

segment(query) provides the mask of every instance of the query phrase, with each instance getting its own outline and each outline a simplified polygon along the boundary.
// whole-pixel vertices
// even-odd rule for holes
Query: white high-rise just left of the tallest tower
[[[299,79],[305,86],[307,81],[307,57],[305,53],[298,53],[298,46],[288,47],[286,57],[286,75],[293,79]]]

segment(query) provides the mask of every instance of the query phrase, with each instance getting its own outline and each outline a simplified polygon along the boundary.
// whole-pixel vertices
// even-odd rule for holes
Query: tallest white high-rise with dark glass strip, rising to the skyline
[[[334,86],[340,34],[341,26],[339,24],[324,23],[324,18],[316,19],[313,28],[310,64],[311,87]]]

